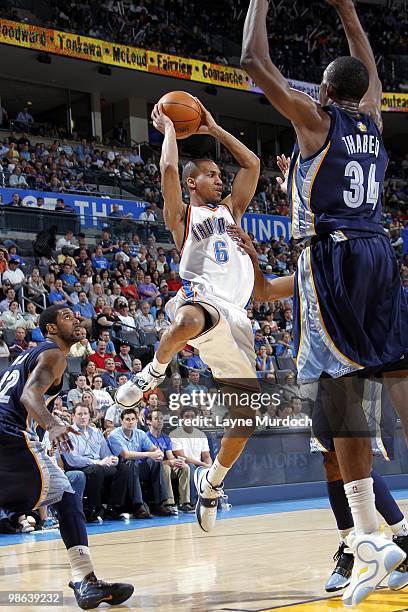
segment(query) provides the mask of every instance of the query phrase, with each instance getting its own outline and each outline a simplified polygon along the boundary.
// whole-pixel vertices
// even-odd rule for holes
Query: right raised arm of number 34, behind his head
[[[352,0],[326,0],[326,2],[336,7],[347,37],[350,55],[362,61],[368,70],[370,84],[360,102],[360,110],[372,115],[378,129],[382,131],[382,85],[378,77],[373,50],[361,26],[355,6]]]

